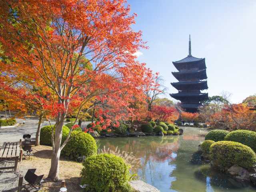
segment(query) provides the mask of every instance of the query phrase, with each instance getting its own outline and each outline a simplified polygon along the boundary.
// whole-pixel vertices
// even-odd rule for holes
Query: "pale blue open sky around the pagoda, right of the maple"
[[[256,94],[256,1],[255,0],[128,0],[138,14],[134,30],[142,30],[149,50],[140,50],[140,62],[160,72],[168,93],[177,90],[172,61],[188,55],[206,59],[209,96],[232,93],[242,102]],[[166,95],[170,98],[170,96]]]

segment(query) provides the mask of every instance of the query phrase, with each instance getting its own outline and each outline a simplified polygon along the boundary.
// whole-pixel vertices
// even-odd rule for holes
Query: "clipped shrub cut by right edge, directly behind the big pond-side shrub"
[[[249,146],[256,152],[256,132],[248,130],[236,130],[227,134],[224,138],[226,141],[239,142]]]

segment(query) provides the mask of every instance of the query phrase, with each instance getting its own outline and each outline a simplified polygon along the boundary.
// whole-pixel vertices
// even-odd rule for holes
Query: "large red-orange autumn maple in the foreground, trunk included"
[[[1,70],[23,82],[42,82],[50,90],[51,102],[47,96],[36,97],[50,111],[46,118],[56,118],[48,174],[53,180],[59,178],[60,151],[72,132],[61,144],[67,114],[75,108],[77,121],[92,99],[110,104],[118,101],[122,109],[128,108],[132,96],[141,94],[148,83],[143,78],[145,66],[133,55],[145,48],[141,32],[132,30],[135,14],[130,15],[125,4],[124,0],[0,2],[1,53],[8,58],[8,62],[1,60]],[[92,63],[92,69],[81,64],[82,58],[88,59],[85,64]],[[105,126],[111,122],[100,120]]]

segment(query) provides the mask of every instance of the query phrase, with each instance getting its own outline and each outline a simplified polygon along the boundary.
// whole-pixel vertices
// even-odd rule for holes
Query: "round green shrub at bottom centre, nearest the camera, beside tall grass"
[[[88,184],[87,192],[114,192],[127,184],[130,174],[129,166],[114,154],[98,154],[83,163],[81,183]]]

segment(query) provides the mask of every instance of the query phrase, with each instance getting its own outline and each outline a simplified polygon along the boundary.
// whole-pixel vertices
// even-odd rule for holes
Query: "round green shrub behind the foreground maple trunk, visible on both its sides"
[[[69,133],[69,128],[66,126],[62,127],[62,142],[67,138]],[[54,125],[54,135],[55,135],[55,125]],[[44,126],[41,128],[40,132],[40,144],[52,146],[52,127],[50,125]]]

